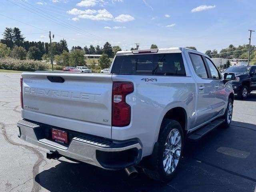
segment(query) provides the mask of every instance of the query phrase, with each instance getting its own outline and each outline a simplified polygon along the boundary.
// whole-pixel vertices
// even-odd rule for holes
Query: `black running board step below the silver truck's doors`
[[[200,138],[205,136],[208,132],[210,132],[214,128],[220,126],[224,121],[225,121],[225,119],[216,119],[216,120],[210,122],[210,124],[196,130],[195,132],[192,132],[192,134],[190,136],[188,136],[188,139],[194,140],[194,141],[199,140]]]

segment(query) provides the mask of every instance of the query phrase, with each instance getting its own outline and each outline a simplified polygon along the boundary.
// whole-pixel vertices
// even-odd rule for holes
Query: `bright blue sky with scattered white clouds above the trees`
[[[108,41],[123,50],[154,43],[219,51],[247,44],[248,29],[256,29],[255,0],[2,0],[0,10],[0,38],[5,27],[16,26],[26,40],[48,42],[51,30],[69,48]]]

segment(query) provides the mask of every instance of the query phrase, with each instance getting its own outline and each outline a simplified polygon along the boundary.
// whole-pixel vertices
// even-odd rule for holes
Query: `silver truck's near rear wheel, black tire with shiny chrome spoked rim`
[[[156,156],[152,157],[151,167],[143,168],[144,173],[158,181],[171,180],[178,169],[183,153],[184,136],[179,122],[164,119],[156,145]]]

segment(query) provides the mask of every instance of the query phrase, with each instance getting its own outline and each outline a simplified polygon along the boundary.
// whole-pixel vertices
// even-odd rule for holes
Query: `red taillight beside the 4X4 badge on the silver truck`
[[[131,107],[126,103],[126,95],[134,90],[131,82],[113,82],[112,126],[122,127],[130,124]]]

